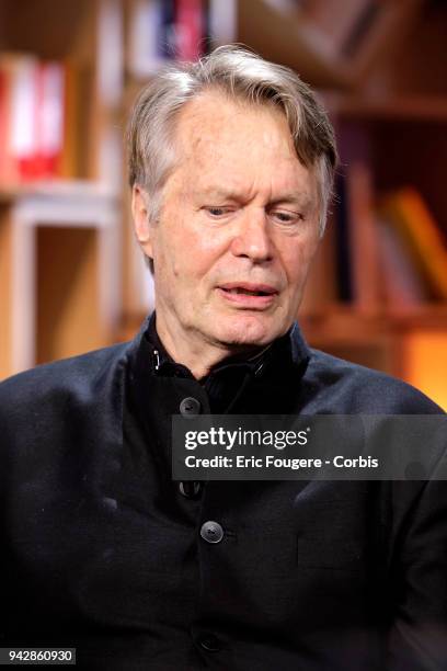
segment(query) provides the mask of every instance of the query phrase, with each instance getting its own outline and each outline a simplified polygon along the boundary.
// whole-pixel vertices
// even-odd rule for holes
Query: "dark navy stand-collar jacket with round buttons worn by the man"
[[[156,365],[145,329],[0,385],[0,647],[126,671],[447,669],[446,484],[182,490],[171,416],[185,397],[209,412],[214,383]],[[440,412],[298,329],[278,343],[262,372],[222,366],[232,412]]]

